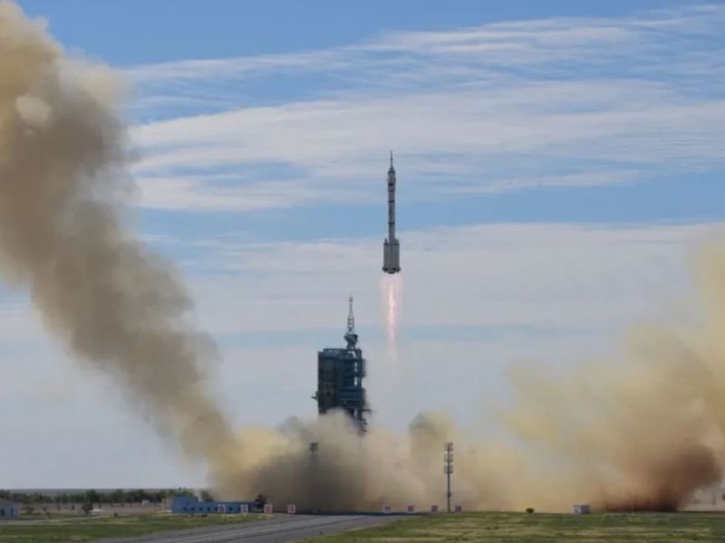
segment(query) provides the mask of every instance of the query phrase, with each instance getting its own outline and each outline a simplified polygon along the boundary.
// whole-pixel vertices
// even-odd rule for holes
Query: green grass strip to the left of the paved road
[[[32,523],[0,522],[0,543],[82,543],[100,538],[142,536],[152,532],[199,528],[264,519],[264,515],[187,515],[145,514],[119,517],[86,517]]]

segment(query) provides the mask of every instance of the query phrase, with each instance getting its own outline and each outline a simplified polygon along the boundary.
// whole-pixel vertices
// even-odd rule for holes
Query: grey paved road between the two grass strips
[[[400,520],[403,515],[275,515],[266,520],[229,526],[185,529],[141,538],[103,539],[99,543],[289,543],[324,534],[367,528]]]

